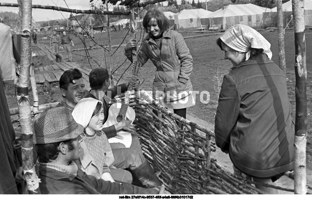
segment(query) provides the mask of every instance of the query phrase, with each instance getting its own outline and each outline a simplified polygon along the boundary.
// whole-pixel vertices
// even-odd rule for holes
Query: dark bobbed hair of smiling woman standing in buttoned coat
[[[146,12],[143,18],[143,27],[145,32],[149,32],[147,30],[147,25],[152,18],[156,20],[161,32],[164,32],[165,30],[167,30],[167,28],[170,27],[170,22],[168,18],[163,14],[163,12],[158,9],[152,8]]]

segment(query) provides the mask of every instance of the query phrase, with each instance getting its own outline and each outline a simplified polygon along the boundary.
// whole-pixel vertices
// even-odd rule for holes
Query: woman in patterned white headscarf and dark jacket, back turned
[[[215,118],[216,144],[234,173],[274,184],[294,168],[294,125],[286,75],[271,61],[271,44],[246,25],[230,27],[217,45],[233,67],[223,78]],[[267,193],[278,190],[256,184]]]

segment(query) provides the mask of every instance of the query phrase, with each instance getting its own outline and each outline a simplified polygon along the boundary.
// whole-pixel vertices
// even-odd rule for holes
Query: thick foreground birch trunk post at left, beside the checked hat
[[[21,27],[21,67],[20,77],[16,85],[16,98],[22,126],[22,164],[24,178],[30,194],[40,194],[39,179],[36,174],[32,153],[32,119],[29,103],[28,84],[31,66],[31,27],[32,27],[32,0],[22,2]]]

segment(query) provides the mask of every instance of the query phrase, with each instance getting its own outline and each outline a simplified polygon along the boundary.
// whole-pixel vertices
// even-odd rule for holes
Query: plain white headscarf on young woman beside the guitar
[[[102,104],[100,100],[94,98],[81,99],[71,113],[75,121],[78,124],[81,124],[84,129],[88,126],[92,118],[93,111],[99,102]]]

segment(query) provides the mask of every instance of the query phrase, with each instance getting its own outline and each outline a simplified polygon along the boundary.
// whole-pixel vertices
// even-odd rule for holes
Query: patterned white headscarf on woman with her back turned
[[[272,58],[272,52],[270,50],[271,44],[255,29],[243,25],[236,24],[227,29],[220,39],[230,48],[239,51],[247,52],[246,61],[250,57],[250,48],[263,49],[269,59]]]

